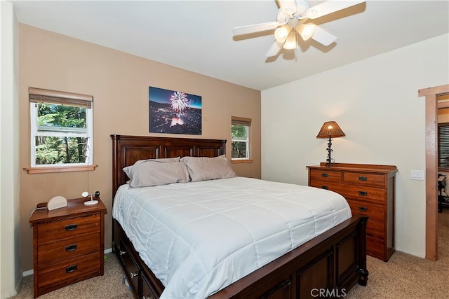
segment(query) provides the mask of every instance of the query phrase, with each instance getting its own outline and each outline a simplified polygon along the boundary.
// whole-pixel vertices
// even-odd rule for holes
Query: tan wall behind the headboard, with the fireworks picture
[[[20,173],[23,270],[33,267],[32,229],[27,223],[32,209],[38,202],[46,202],[55,195],[79,197],[87,184],[89,192],[100,191],[100,197],[107,206],[105,249],[111,248],[112,141],[109,135],[156,135],[148,132],[150,85],[201,95],[203,134],[191,137],[227,139],[227,153],[231,152],[231,116],[252,118],[251,155],[254,162],[234,164],[233,167],[240,176],[260,178],[260,91],[22,24],[19,27],[19,45],[20,167],[30,165],[29,87],[93,95],[93,162],[99,165],[88,174]]]

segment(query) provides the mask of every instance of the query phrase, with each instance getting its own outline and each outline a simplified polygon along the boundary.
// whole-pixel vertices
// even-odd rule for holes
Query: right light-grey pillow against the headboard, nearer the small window
[[[226,159],[188,161],[185,164],[192,181],[228,179],[237,176]]]

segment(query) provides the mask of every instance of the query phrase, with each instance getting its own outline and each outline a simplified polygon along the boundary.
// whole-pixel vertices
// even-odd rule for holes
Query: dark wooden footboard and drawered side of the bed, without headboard
[[[366,286],[366,221],[354,216],[210,296],[222,298],[344,297]],[[114,220],[113,249],[136,298],[159,298],[163,285]]]

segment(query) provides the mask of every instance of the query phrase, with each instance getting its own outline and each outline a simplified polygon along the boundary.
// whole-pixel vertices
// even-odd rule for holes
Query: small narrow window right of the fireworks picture
[[[232,116],[232,160],[250,158],[250,118]]]

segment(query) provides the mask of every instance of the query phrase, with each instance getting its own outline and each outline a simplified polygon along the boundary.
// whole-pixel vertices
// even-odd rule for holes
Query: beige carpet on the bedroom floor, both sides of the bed
[[[449,209],[438,213],[438,260],[432,262],[396,251],[388,263],[368,256],[367,286],[354,286],[345,298],[412,299],[449,298]],[[105,260],[105,275],[41,295],[59,298],[133,298],[123,285],[123,272],[113,253]],[[25,277],[13,298],[33,298],[33,277]]]

